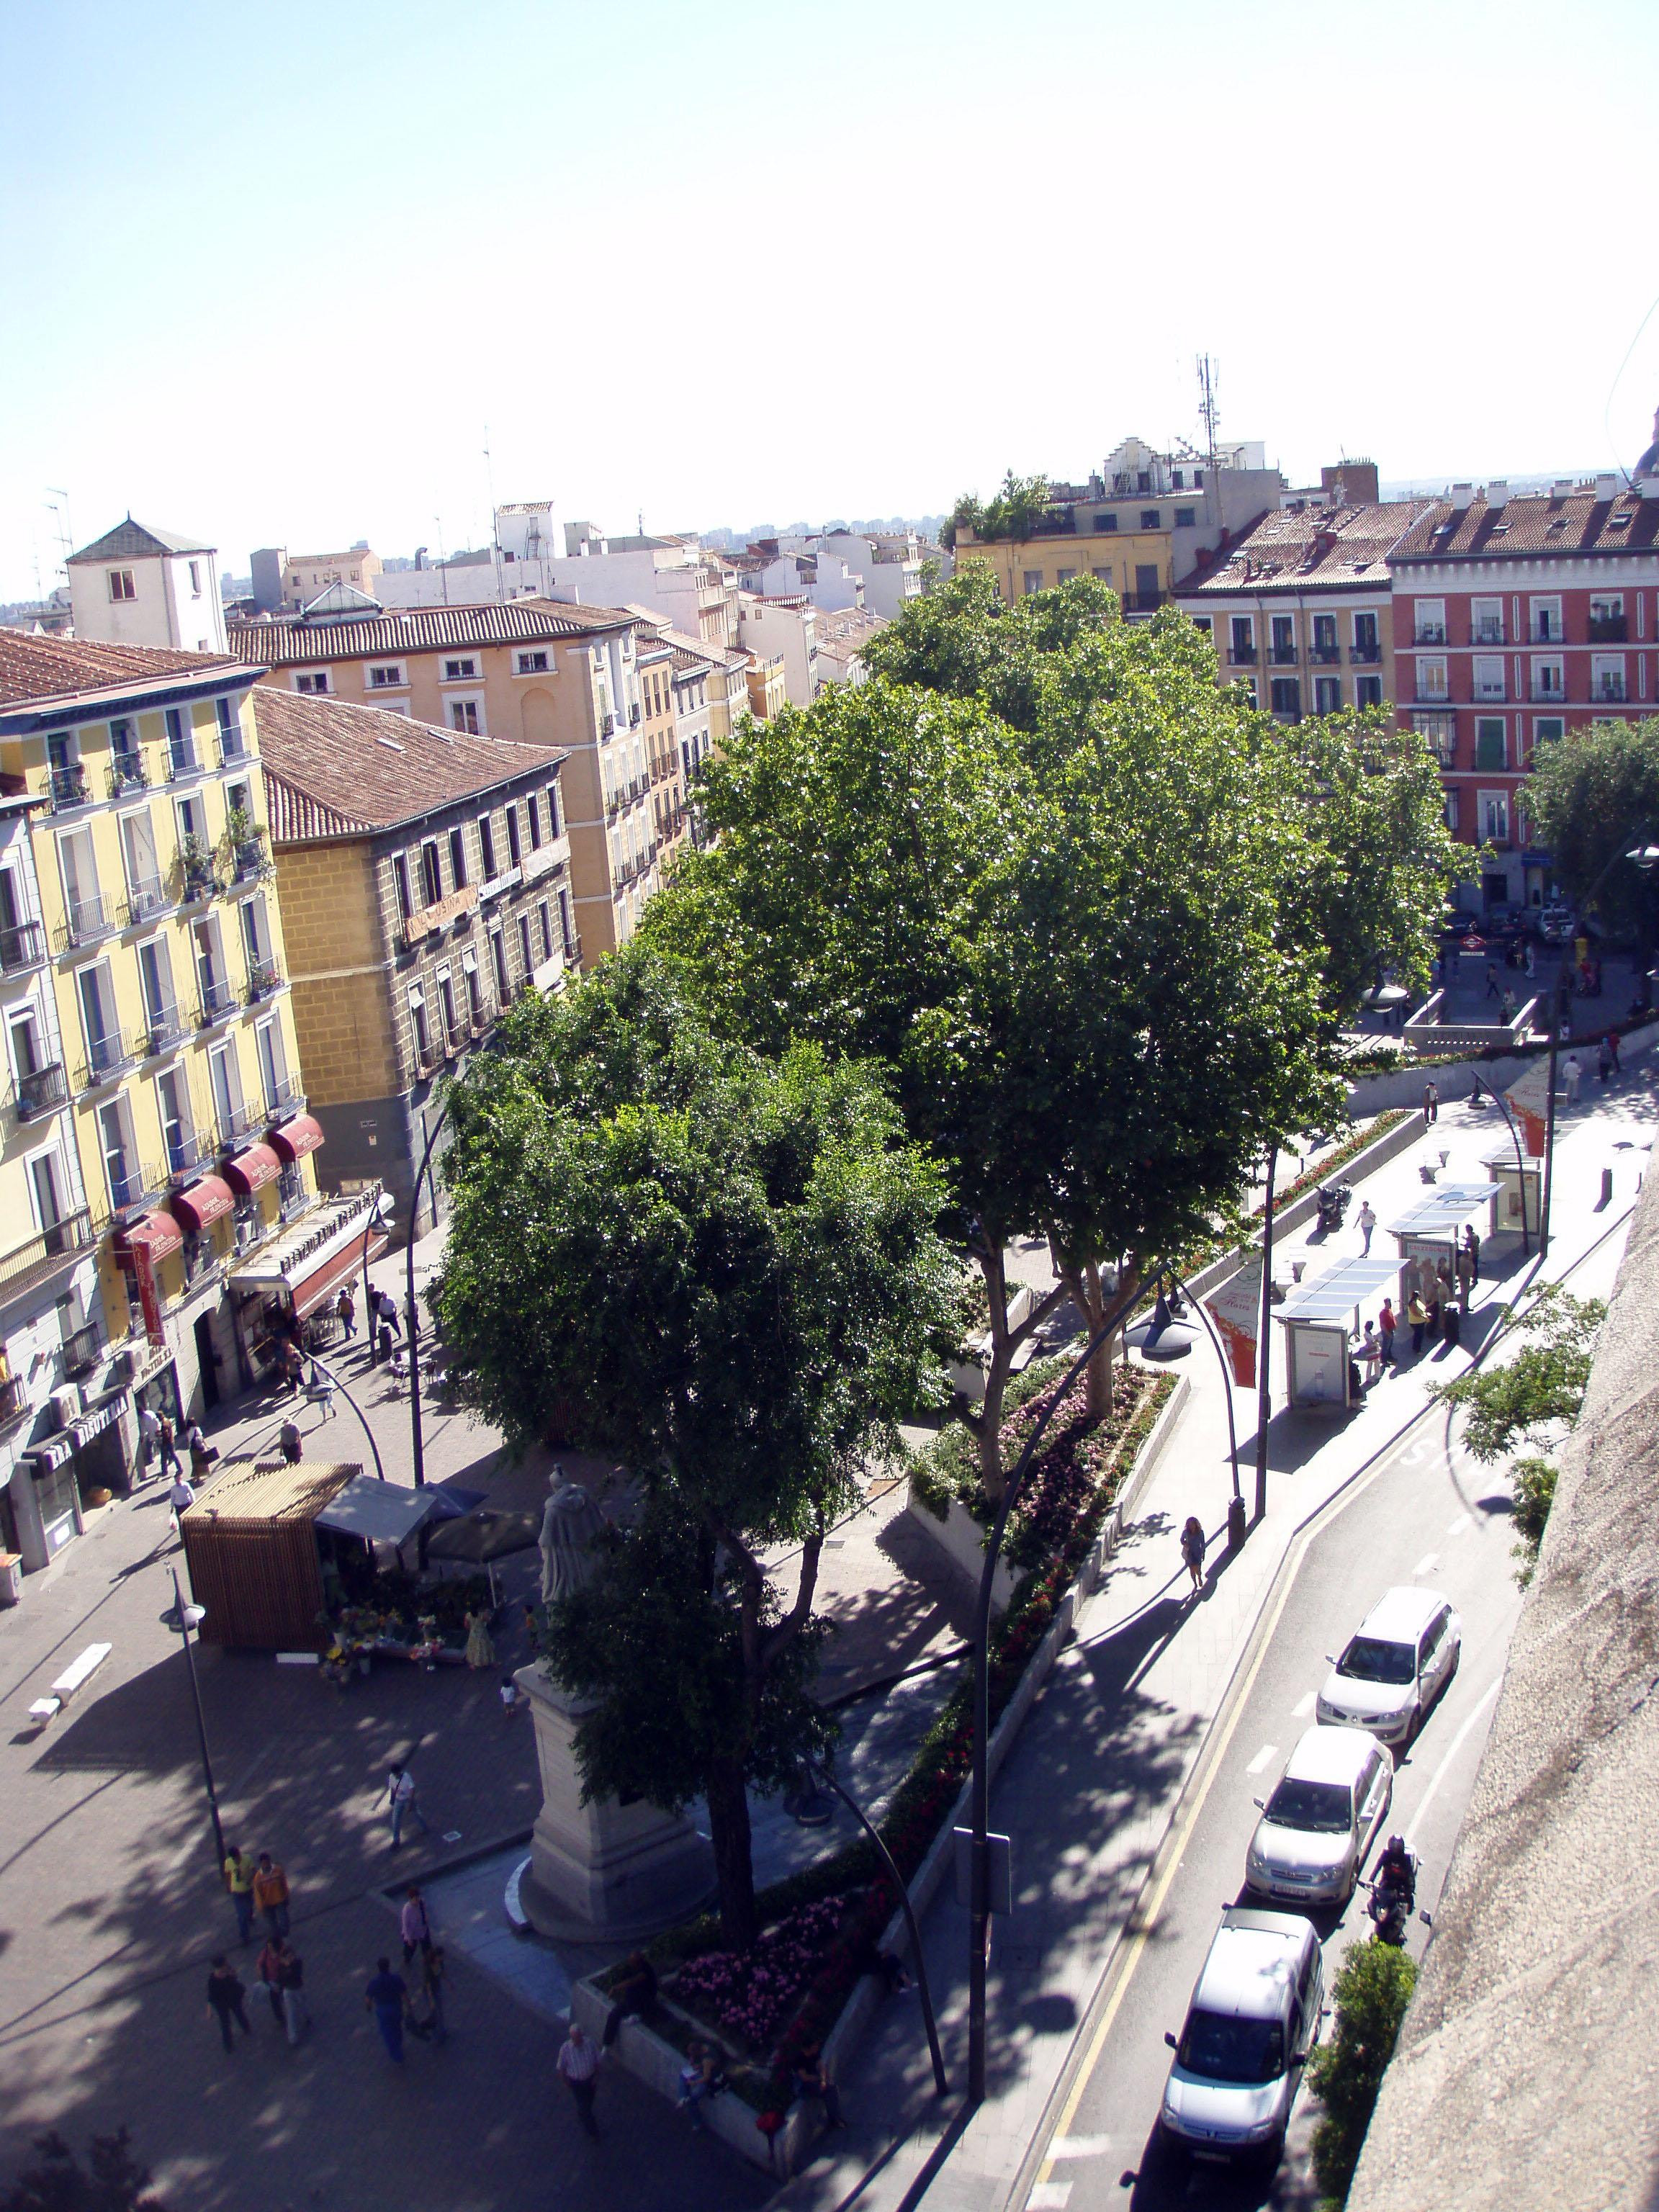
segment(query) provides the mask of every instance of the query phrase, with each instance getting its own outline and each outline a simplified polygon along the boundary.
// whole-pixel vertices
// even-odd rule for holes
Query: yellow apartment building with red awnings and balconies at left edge
[[[312,1272],[330,1234],[252,679],[217,655],[0,633],[0,770],[33,843],[33,883],[0,887],[20,931],[11,1267],[33,1283],[73,1261],[55,1296],[82,1402],[24,1458],[69,1467],[82,1504],[88,1475],[117,1489],[131,1469],[137,1402],[177,1416],[265,1371],[303,1283],[283,1270]]]

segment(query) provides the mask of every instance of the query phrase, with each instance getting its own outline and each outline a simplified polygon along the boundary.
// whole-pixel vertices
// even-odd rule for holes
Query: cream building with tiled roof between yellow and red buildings
[[[1394,675],[1389,553],[1429,500],[1276,509],[1177,591],[1223,681],[1281,721],[1383,706]]]

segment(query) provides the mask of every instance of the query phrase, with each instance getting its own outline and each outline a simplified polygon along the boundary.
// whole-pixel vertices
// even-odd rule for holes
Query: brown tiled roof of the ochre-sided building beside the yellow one
[[[546,774],[566,757],[276,686],[254,692],[254,721],[276,845],[392,830],[515,776]]]

